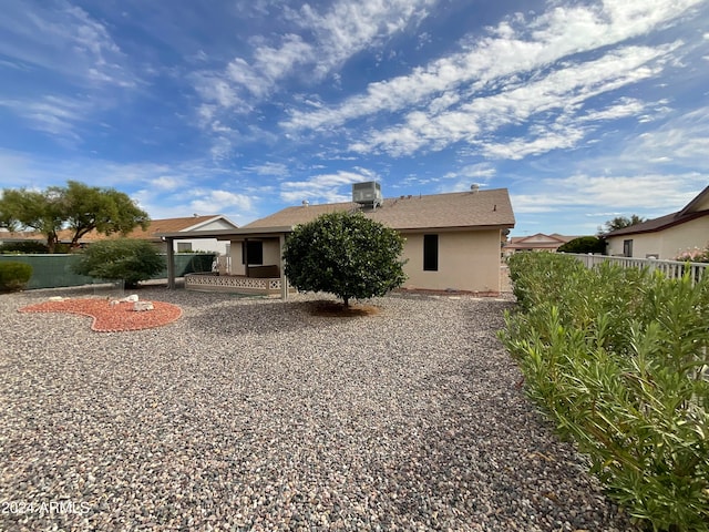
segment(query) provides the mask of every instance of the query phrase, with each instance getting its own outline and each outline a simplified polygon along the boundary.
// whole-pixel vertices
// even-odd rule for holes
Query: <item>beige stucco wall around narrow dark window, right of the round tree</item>
[[[439,270],[423,270],[423,233],[403,233],[404,288],[500,291],[499,229],[427,234],[439,235]]]

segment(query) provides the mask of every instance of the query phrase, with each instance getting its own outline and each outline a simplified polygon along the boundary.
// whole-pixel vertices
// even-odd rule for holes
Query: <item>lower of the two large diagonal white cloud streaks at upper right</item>
[[[580,114],[583,105],[595,96],[657,75],[666,57],[677,44],[627,47],[595,61],[568,63],[531,82],[511,82],[489,96],[472,98],[455,110],[432,113],[412,111],[403,125],[371,131],[350,150],[358,153],[383,151],[393,156],[410,155],[422,149],[442,150],[464,141],[481,153],[502,158],[523,158],[561,147],[573,147],[584,139],[592,119],[595,122],[629,115],[643,109],[638,101],[620,101],[602,111]],[[551,125],[535,125],[535,116]],[[489,141],[492,133],[508,126],[527,124],[526,135],[518,133],[508,142]]]

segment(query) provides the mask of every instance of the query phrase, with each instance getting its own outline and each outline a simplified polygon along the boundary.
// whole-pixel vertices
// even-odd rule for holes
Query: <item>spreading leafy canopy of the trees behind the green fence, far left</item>
[[[138,225],[147,227],[148,222],[147,213],[126,194],[76,181],[43,192],[6,188],[0,197],[0,226],[42,233],[50,253],[54,253],[56,235],[63,228],[72,229],[70,247],[75,248],[93,229],[104,235],[127,234]]]

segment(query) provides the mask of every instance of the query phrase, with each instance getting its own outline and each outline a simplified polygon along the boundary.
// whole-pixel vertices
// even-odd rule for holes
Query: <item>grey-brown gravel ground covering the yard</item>
[[[1,530],[633,530],[518,388],[508,297],[332,318],[155,286],[182,318],[130,332],[17,311],[56,291],[0,296]]]

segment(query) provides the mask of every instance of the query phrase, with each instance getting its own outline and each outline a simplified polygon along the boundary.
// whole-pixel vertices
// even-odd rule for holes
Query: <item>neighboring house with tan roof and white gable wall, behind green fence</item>
[[[152,242],[160,247],[162,253],[166,253],[166,243],[157,236],[158,233],[191,233],[191,236],[188,237],[175,238],[173,241],[174,252],[215,252],[222,255],[228,255],[229,244],[227,242],[217,241],[216,238],[195,238],[192,234],[237,228],[238,226],[236,224],[220,214],[208,216],[194,215],[183,218],[152,219],[146,229],[138,226],[125,236],[129,238],[141,238]],[[71,243],[73,233],[69,229],[63,229],[59,232],[58,236],[60,243],[69,244]],[[106,236],[92,231],[80,238],[79,244],[86,246],[94,242],[105,241],[106,238],[117,238],[123,235],[112,234]],[[35,241],[44,243],[47,242],[47,238],[39,233],[0,233],[0,244],[3,242],[18,241]]]

